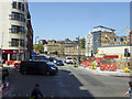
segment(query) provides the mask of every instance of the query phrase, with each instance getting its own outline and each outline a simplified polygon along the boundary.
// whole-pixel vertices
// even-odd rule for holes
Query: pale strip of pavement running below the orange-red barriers
[[[132,77],[130,73],[124,73],[122,69],[117,69],[116,72],[100,70],[100,67],[97,69],[91,69],[89,67],[79,66],[78,68],[86,69],[99,75],[113,76],[113,77]]]

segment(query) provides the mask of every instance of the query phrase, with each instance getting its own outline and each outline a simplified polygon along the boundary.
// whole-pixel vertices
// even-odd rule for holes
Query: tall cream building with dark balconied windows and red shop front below
[[[32,42],[32,26],[29,23],[26,0],[10,0],[0,2],[0,47],[6,61],[28,59],[31,50],[28,43]],[[32,44],[31,44],[32,46]],[[32,48],[32,47],[31,47]]]

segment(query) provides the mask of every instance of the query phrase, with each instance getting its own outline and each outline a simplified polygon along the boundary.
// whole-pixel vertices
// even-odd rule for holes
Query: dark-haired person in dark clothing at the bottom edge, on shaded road
[[[36,84],[35,89],[33,89],[33,91],[32,91],[31,99],[38,99],[38,95],[41,97],[43,97],[43,95],[42,95],[41,90],[38,89],[38,87],[40,87],[40,85]]]

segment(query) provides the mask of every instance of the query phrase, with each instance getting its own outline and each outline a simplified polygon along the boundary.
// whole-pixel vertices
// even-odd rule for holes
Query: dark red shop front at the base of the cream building
[[[4,61],[23,61],[24,51],[23,50],[2,50],[2,59]]]

